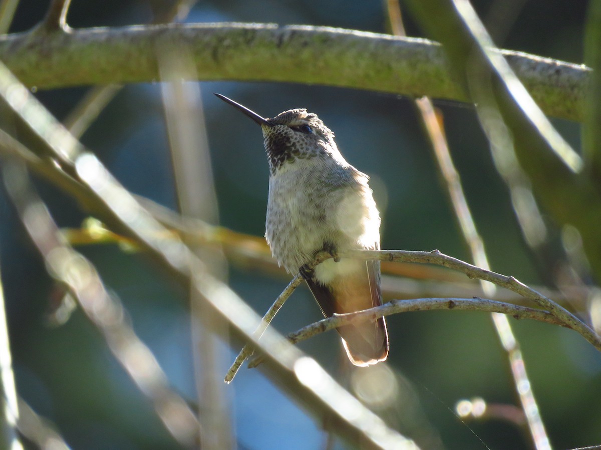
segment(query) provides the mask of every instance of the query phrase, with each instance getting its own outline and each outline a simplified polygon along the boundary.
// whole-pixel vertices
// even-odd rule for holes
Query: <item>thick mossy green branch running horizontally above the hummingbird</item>
[[[209,23],[12,34],[0,60],[27,86],[152,82],[157,43],[191,49],[200,80],[296,82],[466,101],[438,43],[315,26]],[[502,50],[543,111],[581,120],[588,69]]]

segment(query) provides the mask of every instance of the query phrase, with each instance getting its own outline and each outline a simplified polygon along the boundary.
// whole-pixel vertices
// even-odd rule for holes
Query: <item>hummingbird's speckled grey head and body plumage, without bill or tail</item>
[[[262,128],[270,166],[266,238],[273,256],[296,274],[327,245],[339,252],[375,248],[380,217],[368,176],[344,160],[334,133],[304,109],[270,122],[276,125]],[[302,124],[313,133],[294,130]]]

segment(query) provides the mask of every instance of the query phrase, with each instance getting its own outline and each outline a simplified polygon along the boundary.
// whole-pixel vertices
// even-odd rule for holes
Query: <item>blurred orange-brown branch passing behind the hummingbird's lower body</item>
[[[1,143],[2,139],[0,139],[0,152],[4,150],[5,153],[8,153]],[[206,245],[209,247],[218,245],[224,249],[228,262],[239,268],[260,271],[264,274],[289,280],[288,274],[284,269],[279,268],[278,263],[271,256],[264,238],[178,215],[171,209],[158,205],[145,197],[138,196],[136,199],[163,226],[169,228],[169,232],[162,235],[163,239],[179,237],[192,245]],[[97,220],[85,221],[81,228],[64,228],[62,231],[67,241],[75,246],[117,244],[122,245],[128,251],[135,251],[136,249],[132,239],[112,232]],[[525,298],[522,296],[505,290],[497,290],[492,296],[486,295],[477,284],[465,280],[465,277],[461,274],[434,266],[383,262],[382,274],[382,293],[386,298],[410,299],[448,295],[453,297],[475,295],[515,304],[525,302]],[[561,291],[549,289],[545,286],[532,287],[546,297],[553,298],[555,302],[561,305],[572,305],[576,310],[585,308],[588,299],[594,293],[594,287],[587,287],[582,284],[563,286]]]

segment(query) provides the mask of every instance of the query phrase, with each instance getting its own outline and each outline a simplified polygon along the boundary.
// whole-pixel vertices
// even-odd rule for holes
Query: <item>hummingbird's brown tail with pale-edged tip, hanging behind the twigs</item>
[[[379,262],[367,261],[367,273],[355,277],[338,277],[328,286],[313,278],[307,280],[313,296],[323,314],[344,314],[366,310],[382,304]],[[350,361],[360,367],[385,361],[388,357],[388,332],[386,322],[380,317],[375,322],[353,323],[337,328]]]

